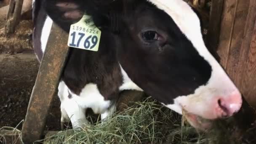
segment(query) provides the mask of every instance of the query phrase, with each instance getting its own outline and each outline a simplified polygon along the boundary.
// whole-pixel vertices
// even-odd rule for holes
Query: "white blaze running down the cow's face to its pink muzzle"
[[[174,99],[174,104],[169,104],[167,107],[180,114],[182,113],[181,107],[183,107],[188,112],[208,119],[218,117],[218,101],[220,99],[228,108],[231,107],[231,110],[240,109],[240,92],[205,47],[200,20],[192,8],[183,0],[148,1],[171,16],[181,32],[191,41],[200,56],[208,61],[212,68],[211,77],[206,85],[200,86],[195,90],[195,93],[189,96],[179,96]]]

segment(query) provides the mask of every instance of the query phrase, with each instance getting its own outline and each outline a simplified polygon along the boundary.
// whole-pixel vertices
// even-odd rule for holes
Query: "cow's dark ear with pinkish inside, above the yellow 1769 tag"
[[[65,30],[79,21],[83,14],[91,16],[96,27],[120,32],[123,0],[45,0],[48,16]]]

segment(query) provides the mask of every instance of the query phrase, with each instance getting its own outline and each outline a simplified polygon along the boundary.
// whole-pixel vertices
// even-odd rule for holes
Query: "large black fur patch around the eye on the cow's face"
[[[150,3],[131,5],[136,7],[126,8],[118,56],[133,82],[164,104],[173,104],[177,97],[206,85],[211,65],[171,16]]]

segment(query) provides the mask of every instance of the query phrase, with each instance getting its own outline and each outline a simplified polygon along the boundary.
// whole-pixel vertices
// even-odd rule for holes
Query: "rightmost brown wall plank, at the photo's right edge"
[[[245,95],[245,99],[256,107],[256,1],[251,0],[245,34],[240,48],[239,63],[235,83]]]

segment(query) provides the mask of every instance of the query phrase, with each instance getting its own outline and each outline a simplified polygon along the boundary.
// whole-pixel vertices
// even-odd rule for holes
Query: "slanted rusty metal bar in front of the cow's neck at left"
[[[68,34],[53,23],[22,128],[25,144],[43,138],[46,118],[69,53],[67,40]]]

